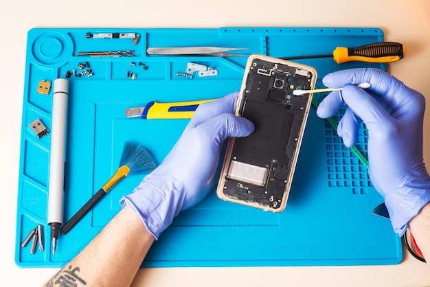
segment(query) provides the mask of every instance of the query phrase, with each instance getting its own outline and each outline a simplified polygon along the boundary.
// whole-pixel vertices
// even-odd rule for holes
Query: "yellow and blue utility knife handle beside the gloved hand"
[[[141,117],[142,119],[191,119],[199,104],[213,100],[172,103],[148,102]]]

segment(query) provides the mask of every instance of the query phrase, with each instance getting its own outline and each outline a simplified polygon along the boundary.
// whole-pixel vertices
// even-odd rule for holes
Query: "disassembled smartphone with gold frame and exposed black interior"
[[[249,57],[236,115],[256,126],[249,137],[229,139],[218,182],[219,198],[283,211],[291,188],[312,94],[312,67],[261,55]]]

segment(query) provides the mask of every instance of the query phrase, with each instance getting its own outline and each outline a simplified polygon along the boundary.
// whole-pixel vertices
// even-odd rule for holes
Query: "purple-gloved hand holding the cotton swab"
[[[363,90],[352,84],[369,82]],[[351,69],[330,73],[323,79],[330,93],[319,104],[317,115],[330,117],[348,105],[339,122],[338,135],[351,147],[364,122],[369,133],[369,176],[385,198],[394,231],[399,236],[430,200],[430,178],[422,156],[425,98],[403,82],[378,69]]]

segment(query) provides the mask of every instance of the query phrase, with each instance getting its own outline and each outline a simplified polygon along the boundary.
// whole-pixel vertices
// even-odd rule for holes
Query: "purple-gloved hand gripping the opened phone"
[[[237,98],[231,93],[201,104],[161,165],[120,200],[139,214],[156,240],[179,211],[199,203],[214,187],[223,141],[253,132],[248,119],[234,115]]]

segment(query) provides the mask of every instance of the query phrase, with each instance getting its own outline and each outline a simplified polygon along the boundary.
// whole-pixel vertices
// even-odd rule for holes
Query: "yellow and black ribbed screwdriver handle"
[[[350,61],[395,62],[406,56],[406,47],[396,42],[381,42],[357,48],[337,47],[333,58],[338,64]]]

